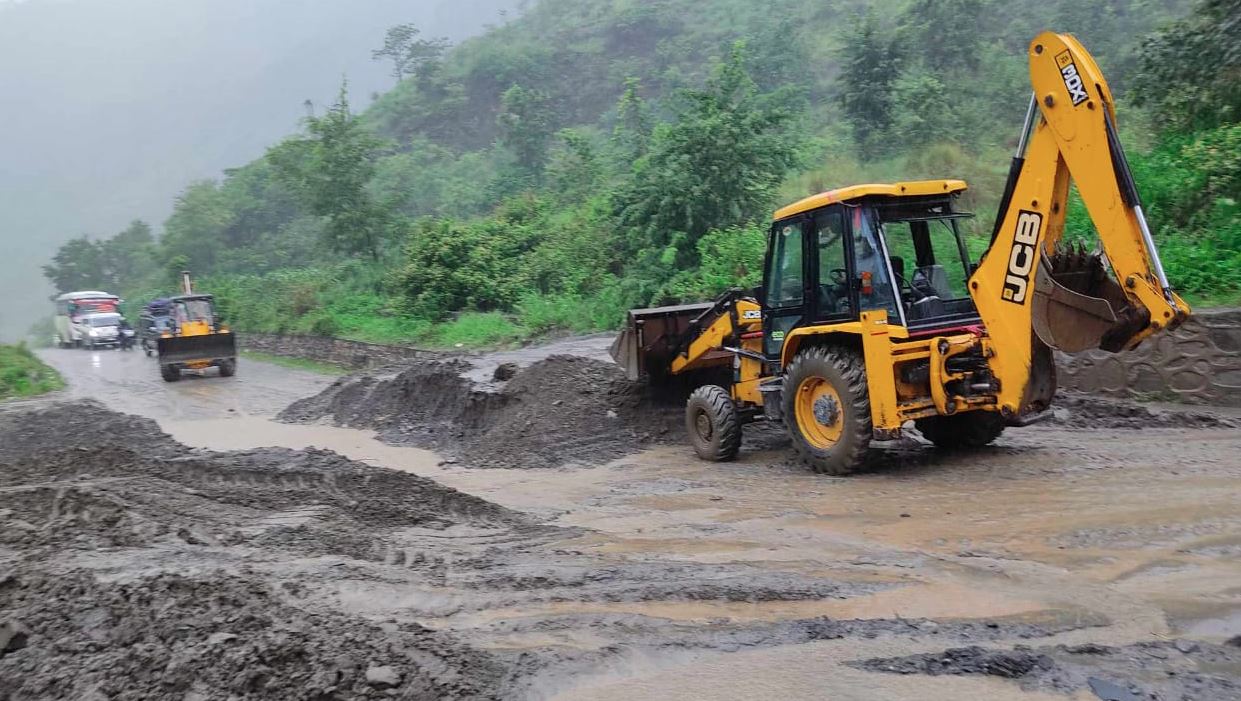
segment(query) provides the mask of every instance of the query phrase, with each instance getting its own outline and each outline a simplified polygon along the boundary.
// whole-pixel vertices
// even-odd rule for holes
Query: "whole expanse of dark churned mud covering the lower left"
[[[500,696],[490,655],[319,584],[393,552],[426,582],[426,534],[526,516],[326,450],[191,450],[93,402],[6,412],[0,435],[0,701]]]

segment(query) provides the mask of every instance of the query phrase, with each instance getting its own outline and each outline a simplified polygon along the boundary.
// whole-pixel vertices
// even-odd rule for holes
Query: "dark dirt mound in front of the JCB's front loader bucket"
[[[480,468],[598,464],[681,439],[680,407],[656,401],[616,365],[551,356],[501,385],[467,378],[470,368],[459,360],[427,361],[395,375],[343,378],[279,418],[372,428],[386,442]]]

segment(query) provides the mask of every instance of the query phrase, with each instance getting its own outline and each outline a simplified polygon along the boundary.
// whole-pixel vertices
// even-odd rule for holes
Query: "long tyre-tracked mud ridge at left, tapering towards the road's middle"
[[[328,450],[151,458],[125,448],[46,452],[0,467],[0,545],[45,548],[251,545],[382,560],[392,529],[527,519],[412,474]]]

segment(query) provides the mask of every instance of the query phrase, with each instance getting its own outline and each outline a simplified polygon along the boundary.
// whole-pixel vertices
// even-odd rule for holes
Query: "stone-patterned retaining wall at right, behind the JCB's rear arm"
[[[1069,390],[1241,407],[1241,309],[1195,311],[1134,351],[1061,355],[1057,365]]]

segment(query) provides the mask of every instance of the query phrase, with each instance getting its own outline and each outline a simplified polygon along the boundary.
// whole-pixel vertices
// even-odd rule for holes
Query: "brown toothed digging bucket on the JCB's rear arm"
[[[1121,350],[1132,335],[1133,309],[1098,253],[1069,249],[1042,257],[1034,282],[1031,324],[1064,352]]]

